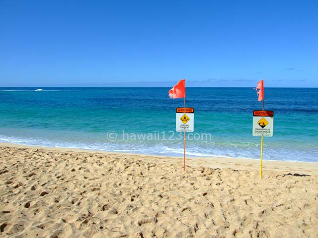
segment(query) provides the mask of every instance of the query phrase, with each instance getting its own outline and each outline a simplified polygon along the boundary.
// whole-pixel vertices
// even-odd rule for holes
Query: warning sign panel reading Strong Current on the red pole
[[[176,121],[175,122],[176,131],[192,132],[194,129],[194,109],[193,108],[177,108],[175,121]]]

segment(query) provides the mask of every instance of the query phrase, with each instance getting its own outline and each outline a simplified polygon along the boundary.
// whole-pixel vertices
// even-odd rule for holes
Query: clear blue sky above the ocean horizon
[[[318,3],[0,0],[0,86],[318,87]]]

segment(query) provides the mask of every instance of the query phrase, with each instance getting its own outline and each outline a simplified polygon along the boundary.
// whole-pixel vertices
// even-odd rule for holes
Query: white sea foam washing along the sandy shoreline
[[[136,154],[151,154],[161,156],[183,156],[183,145],[178,144],[126,144],[97,142],[90,143],[89,141],[61,141],[44,138],[23,138],[0,135],[0,142],[9,142],[15,144],[24,144],[31,146],[44,147],[60,147],[60,148],[75,148],[86,150],[99,150],[108,152],[136,153]],[[243,146],[244,147],[244,146]],[[317,162],[314,158],[306,158],[308,151],[301,150],[286,150],[282,148],[266,149],[264,160],[280,160],[280,161],[307,161]],[[294,155],[294,156],[291,156]],[[258,146],[250,147],[249,149],[238,148],[231,145],[214,145],[205,147],[202,145],[189,145],[186,148],[187,157],[223,157],[223,158],[240,158],[240,159],[259,159]],[[302,158],[301,160],[299,158]]]

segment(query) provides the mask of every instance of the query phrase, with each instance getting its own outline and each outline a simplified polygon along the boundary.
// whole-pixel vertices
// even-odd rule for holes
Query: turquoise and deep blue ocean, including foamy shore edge
[[[173,85],[171,85],[172,87]],[[41,90],[38,90],[41,89]],[[0,142],[110,152],[183,156],[183,132],[167,87],[0,88]],[[254,88],[186,88],[194,108],[189,157],[260,158],[252,136]],[[318,88],[264,88],[274,111],[264,160],[318,162]]]

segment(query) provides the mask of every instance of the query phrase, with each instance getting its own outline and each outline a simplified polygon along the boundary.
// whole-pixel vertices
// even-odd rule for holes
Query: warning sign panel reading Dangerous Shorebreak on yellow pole
[[[274,112],[253,112],[253,136],[273,136]]]

